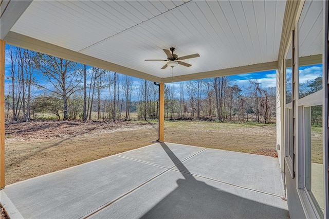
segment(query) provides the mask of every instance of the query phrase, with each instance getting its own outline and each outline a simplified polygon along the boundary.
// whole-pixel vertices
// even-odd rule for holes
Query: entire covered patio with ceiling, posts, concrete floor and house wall
[[[328,218],[328,11],[327,1],[303,0],[1,1],[1,203],[14,218]],[[6,185],[6,44],[155,82],[160,142],[166,83],[277,70],[279,159],[156,143]],[[322,89],[300,98],[300,67],[317,64]],[[322,166],[312,175],[317,105]],[[315,199],[308,182],[319,173]]]

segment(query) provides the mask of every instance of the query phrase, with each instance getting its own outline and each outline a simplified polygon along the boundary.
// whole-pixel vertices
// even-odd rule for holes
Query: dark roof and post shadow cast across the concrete
[[[247,199],[196,180],[166,143],[160,144],[185,179],[141,218],[289,218],[285,209],[251,200],[257,193]]]

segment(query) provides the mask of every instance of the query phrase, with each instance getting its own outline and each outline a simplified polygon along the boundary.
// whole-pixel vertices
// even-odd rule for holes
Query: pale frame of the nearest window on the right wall
[[[303,10],[304,3],[301,5],[301,11]],[[323,1],[323,39],[322,39],[322,89],[318,92],[315,92],[313,94],[310,94],[308,96],[302,97],[299,99],[299,83],[297,82],[297,86],[295,87],[296,93],[297,93],[297,105],[298,107],[297,112],[297,124],[295,132],[298,132],[298,145],[297,147],[297,157],[296,157],[296,165],[297,165],[297,180],[296,180],[296,187],[297,187],[297,193],[299,195],[302,207],[304,209],[306,217],[309,218],[323,218],[327,217],[329,215],[329,177],[328,177],[328,153],[329,153],[329,144],[328,144],[328,135],[329,135],[329,121],[328,121],[328,90],[329,90],[329,81],[328,81],[328,51],[329,51],[329,31],[328,31],[328,24],[329,24],[329,3],[327,1]],[[296,19],[296,80],[299,80],[299,56],[298,56],[298,32],[299,32],[299,21],[300,16]],[[307,176],[305,174],[306,171],[306,161],[307,158],[305,157],[306,150],[308,150],[306,147],[307,142],[310,141],[310,138],[307,139],[307,133],[305,133],[305,127],[307,125],[307,121],[305,123],[305,116],[307,116],[307,111],[310,111],[311,106],[316,105],[322,105],[322,147],[323,147],[323,181],[324,181],[324,213],[322,215],[321,209],[318,208],[318,203],[315,204],[314,197],[312,197],[313,194],[310,194],[308,190],[306,189],[306,180]],[[309,107],[309,109],[307,108]],[[305,110],[306,108],[306,110]],[[311,113],[311,112],[309,112]],[[301,135],[301,136],[300,136]],[[305,139],[306,138],[306,139]],[[312,150],[312,149],[311,149]]]

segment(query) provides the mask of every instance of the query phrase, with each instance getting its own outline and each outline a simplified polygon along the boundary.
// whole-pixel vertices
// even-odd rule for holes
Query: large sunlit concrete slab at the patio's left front
[[[25,218],[79,218],[164,170],[111,156],[18,182],[4,191]]]

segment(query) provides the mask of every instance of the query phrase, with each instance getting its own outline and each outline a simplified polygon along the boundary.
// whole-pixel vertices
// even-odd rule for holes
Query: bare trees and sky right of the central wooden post
[[[241,88],[229,77],[217,77],[166,87],[168,119],[270,122],[275,118],[276,90],[257,80]],[[177,98],[179,97],[179,98]]]

